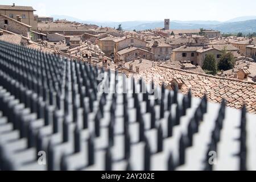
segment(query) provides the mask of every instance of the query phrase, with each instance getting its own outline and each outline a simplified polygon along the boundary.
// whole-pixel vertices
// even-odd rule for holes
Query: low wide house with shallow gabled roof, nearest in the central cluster
[[[117,52],[117,57],[115,60],[123,60],[123,61],[133,61],[137,58],[143,58],[147,60],[153,59],[153,53],[149,52],[145,49],[138,47],[127,47]]]

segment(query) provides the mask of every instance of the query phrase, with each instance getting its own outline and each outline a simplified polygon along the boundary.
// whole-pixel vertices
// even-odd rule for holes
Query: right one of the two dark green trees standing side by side
[[[233,69],[236,62],[234,55],[231,52],[227,52],[226,48],[222,52],[221,59],[218,61],[218,69],[224,71]]]

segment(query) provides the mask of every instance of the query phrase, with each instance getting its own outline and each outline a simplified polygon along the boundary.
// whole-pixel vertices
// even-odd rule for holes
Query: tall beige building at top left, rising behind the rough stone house
[[[31,6],[13,6],[0,5],[0,14],[6,15],[9,18],[16,19],[16,16],[20,16],[21,22],[31,26],[32,30],[38,28],[37,18],[34,16],[34,10]]]

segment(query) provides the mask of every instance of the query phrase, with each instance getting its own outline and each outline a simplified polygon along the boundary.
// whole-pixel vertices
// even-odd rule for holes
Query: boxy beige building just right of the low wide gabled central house
[[[151,47],[152,53],[154,53],[154,60],[168,60],[172,52],[172,46],[163,42],[155,41]]]

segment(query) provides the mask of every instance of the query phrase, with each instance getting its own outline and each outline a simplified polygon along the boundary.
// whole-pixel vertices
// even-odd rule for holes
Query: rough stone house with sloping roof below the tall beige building
[[[17,16],[18,20],[9,18],[9,16],[0,14],[0,28],[3,30],[14,32],[15,34],[25,36],[30,39],[31,26],[20,22],[20,17]]]

